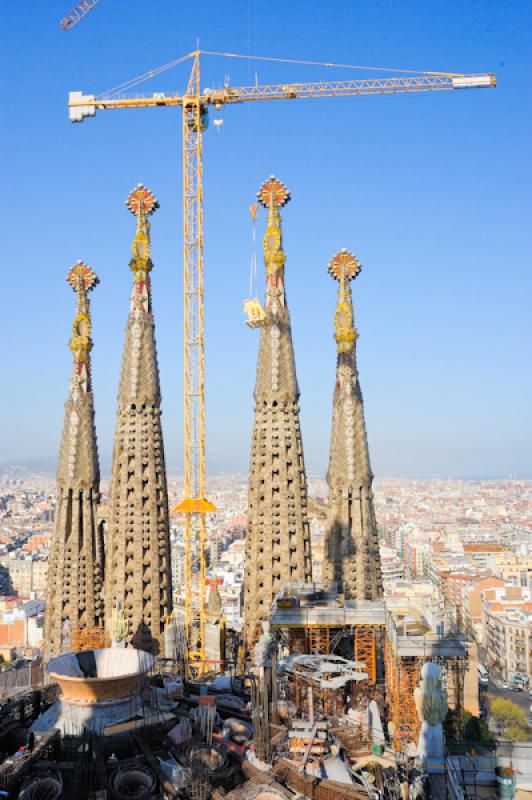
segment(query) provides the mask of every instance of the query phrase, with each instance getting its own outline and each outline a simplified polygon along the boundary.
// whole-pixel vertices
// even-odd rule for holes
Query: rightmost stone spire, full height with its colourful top
[[[350,286],[360,269],[360,262],[346,250],[337,253],[329,264],[330,275],[338,281],[334,317],[338,361],[327,473],[329,518],[324,577],[337,581],[346,600],[374,600],[382,594],[373,475],[356,365],[358,334]]]

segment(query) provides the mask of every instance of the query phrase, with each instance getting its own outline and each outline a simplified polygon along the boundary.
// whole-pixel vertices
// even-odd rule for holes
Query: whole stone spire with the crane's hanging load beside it
[[[280,215],[290,195],[272,177],[261,187],[258,199],[268,209],[268,227],[248,492],[244,621],[249,643],[269,617],[281,586],[311,580],[307,481]]]

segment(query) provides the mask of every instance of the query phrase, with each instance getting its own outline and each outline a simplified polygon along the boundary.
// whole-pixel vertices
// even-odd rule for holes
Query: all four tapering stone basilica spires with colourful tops
[[[283,585],[312,580],[299,386],[281,223],[281,209],[290,194],[280,181],[270,178],[258,198],[267,209],[268,222],[243,598],[249,642],[269,618],[273,599]],[[72,638],[83,639],[83,631],[93,631],[93,636],[97,632],[103,643],[112,633],[117,609],[127,628],[126,640],[160,652],[164,622],[172,610],[167,478],[151,298],[150,217],[158,203],[139,185],[127,206],[136,219],[130,261],[133,287],[105,519],[100,510],[90,359],[89,293],[98,278],[82,262],[67,277],[77,302],[69,342],[72,376],[57,470],[45,636],[49,656],[61,652]],[[335,582],[345,599],[373,600],[382,594],[382,579],[350,289],[360,263],[342,250],[332,259],[329,272],[338,281],[334,320],[338,355],[324,578]]]

